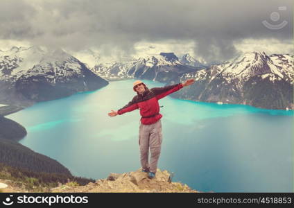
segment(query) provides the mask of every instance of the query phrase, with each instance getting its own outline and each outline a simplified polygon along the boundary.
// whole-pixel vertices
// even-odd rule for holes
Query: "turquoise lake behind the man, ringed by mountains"
[[[149,88],[164,84],[143,80]],[[139,169],[139,110],[110,117],[135,92],[134,80],[37,103],[6,116],[28,131],[19,143],[100,179]],[[167,96],[159,100],[158,168],[198,191],[293,192],[293,111],[218,105]]]

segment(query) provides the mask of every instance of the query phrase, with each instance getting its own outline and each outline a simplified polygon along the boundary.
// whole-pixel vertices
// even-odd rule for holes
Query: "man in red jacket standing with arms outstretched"
[[[148,173],[148,178],[150,179],[155,177],[162,145],[162,122],[160,120],[162,114],[159,113],[158,100],[193,83],[195,83],[195,80],[189,79],[176,85],[148,89],[141,80],[136,80],[133,83],[133,89],[137,95],[132,98],[132,101],[121,109],[112,110],[112,112],[108,113],[108,116],[112,117],[132,110],[140,110],[139,147],[141,166],[142,171]],[[151,153],[150,164],[148,163],[149,148]]]

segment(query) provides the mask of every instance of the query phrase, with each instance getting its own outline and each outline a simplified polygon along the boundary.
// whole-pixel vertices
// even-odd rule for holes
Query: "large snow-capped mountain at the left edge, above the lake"
[[[0,52],[0,95],[10,101],[47,101],[107,85],[62,49],[12,47]]]

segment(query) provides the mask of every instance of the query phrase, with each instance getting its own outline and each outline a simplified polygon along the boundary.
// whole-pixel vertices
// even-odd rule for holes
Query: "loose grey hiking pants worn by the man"
[[[141,153],[141,166],[144,169],[149,168],[150,172],[156,173],[157,162],[162,145],[162,121],[159,119],[155,123],[145,125],[140,122],[139,128],[139,146]],[[150,165],[148,164],[148,155],[150,148]]]

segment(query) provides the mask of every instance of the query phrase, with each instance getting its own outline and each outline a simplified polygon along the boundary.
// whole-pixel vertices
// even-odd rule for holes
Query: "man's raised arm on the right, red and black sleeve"
[[[192,85],[195,82],[194,79],[186,80],[184,83],[178,83],[175,85],[169,85],[166,87],[154,87],[152,91],[155,93],[157,100],[172,94],[173,92],[177,92],[179,89],[186,87],[188,85]]]

